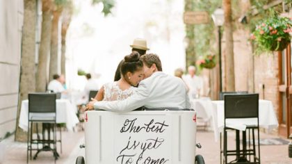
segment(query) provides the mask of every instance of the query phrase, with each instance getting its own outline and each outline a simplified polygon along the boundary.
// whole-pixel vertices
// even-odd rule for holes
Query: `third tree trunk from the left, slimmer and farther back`
[[[59,73],[58,63],[58,30],[59,19],[62,10],[53,11],[53,22],[51,26],[51,57],[49,62],[49,81],[53,79],[54,74]]]

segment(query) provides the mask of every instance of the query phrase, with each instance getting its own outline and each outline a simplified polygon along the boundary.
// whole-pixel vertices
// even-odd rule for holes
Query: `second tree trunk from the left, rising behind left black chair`
[[[51,0],[42,0],[42,34],[40,40],[40,54],[38,57],[38,71],[36,76],[36,91],[45,92],[47,84],[47,58],[51,43]]]

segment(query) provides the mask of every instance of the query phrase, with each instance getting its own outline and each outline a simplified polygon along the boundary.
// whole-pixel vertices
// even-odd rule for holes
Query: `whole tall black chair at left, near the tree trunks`
[[[33,123],[47,123],[42,126],[42,139],[38,135],[38,126],[36,126],[37,138],[33,138]],[[53,151],[55,157],[58,158],[56,151],[56,94],[54,93],[33,93],[29,94],[29,132],[27,133],[27,154],[26,162],[29,163],[29,151],[31,157],[31,151],[37,150],[37,153],[33,157],[38,156],[40,151]],[[31,129],[30,129],[31,128]],[[47,139],[45,137],[45,129],[47,129]],[[53,131],[53,139],[50,138],[51,129]],[[34,148],[33,145],[37,145]],[[42,145],[40,149],[39,145]],[[53,145],[53,148],[51,148]]]

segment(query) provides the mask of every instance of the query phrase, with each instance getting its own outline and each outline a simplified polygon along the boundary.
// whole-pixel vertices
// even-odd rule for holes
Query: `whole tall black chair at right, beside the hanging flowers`
[[[259,141],[259,94],[246,94],[246,95],[225,95],[224,96],[224,134],[223,134],[223,150],[220,150],[220,156],[224,156],[223,162],[227,163],[227,156],[236,156],[235,162],[237,163],[261,163],[260,161],[260,146],[258,150],[255,148],[254,130],[257,129],[257,140]],[[249,133],[249,147],[246,145],[246,132],[243,131],[243,149],[240,149],[240,136],[239,131],[236,130],[236,149],[227,149],[227,131],[229,128],[226,126],[228,119],[244,119],[255,118],[257,123],[248,125],[247,130],[252,131],[252,147],[250,147],[250,133]],[[232,129],[234,130],[234,129]],[[258,151],[258,157],[256,154]],[[251,156],[253,158],[251,158]],[[229,163],[234,163],[231,161]]]

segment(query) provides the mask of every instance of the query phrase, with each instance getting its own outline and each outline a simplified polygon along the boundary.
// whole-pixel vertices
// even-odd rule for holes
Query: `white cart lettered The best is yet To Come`
[[[204,164],[195,155],[194,110],[150,109],[113,113],[86,112],[86,158],[76,164]]]

